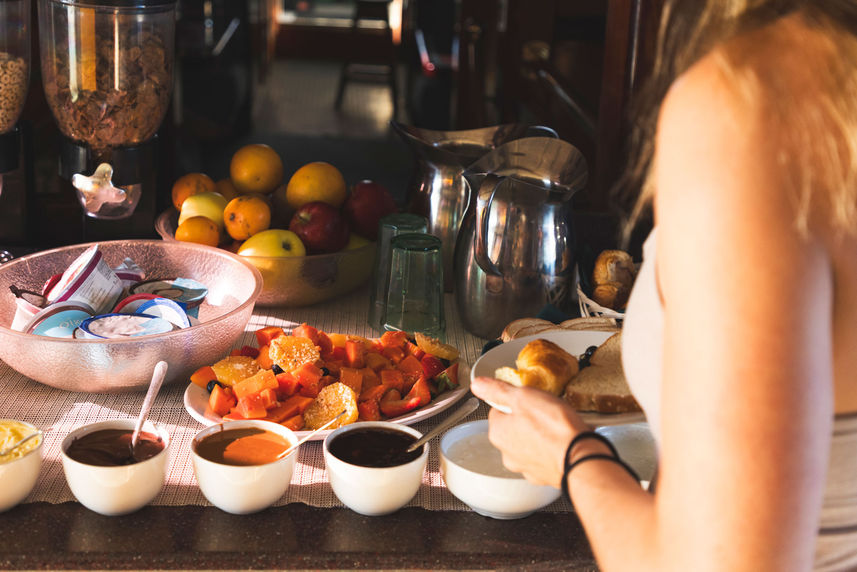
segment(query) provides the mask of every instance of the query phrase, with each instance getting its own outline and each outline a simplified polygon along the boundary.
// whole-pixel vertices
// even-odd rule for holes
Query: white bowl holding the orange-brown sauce
[[[208,502],[232,514],[249,514],[265,509],[285,494],[292,480],[297,449],[286,457],[264,465],[236,466],[216,463],[196,452],[197,443],[228,429],[255,427],[284,437],[290,445],[297,443],[295,433],[279,423],[260,420],[236,420],[206,427],[196,434],[191,445],[191,460],[196,482]]]

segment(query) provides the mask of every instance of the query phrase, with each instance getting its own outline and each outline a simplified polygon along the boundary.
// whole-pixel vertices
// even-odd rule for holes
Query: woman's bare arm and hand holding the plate
[[[795,231],[775,150],[780,129],[737,98],[716,56],[664,103],[655,165],[665,310],[657,494],[609,462],[584,463],[569,478],[606,570],[811,567],[832,423],[832,282],[823,246]],[[514,388],[473,389],[515,411],[538,406]],[[539,420],[559,412],[552,444],[523,446]],[[558,451],[582,424],[552,407],[526,417],[492,412],[492,440],[511,468],[550,482]],[[540,460],[548,455],[555,460]]]

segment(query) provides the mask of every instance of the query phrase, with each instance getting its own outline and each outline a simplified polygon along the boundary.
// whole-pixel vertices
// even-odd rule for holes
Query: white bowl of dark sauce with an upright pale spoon
[[[114,419],[90,423],[72,431],[63,439],[62,466],[71,492],[86,508],[115,516],[139,510],[152,502],[164,486],[170,460],[170,435],[151,421],[143,431],[154,433],[164,442],[163,450],[145,461],[118,467],[101,467],[75,461],[66,451],[72,441],[102,429],[133,430],[135,419]]]

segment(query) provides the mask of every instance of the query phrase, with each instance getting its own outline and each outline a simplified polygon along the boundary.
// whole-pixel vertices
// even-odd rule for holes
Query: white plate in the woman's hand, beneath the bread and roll
[[[589,346],[598,346],[616,332],[599,332],[592,330],[549,330],[532,336],[524,336],[510,340],[504,344],[491,348],[482,355],[470,370],[471,380],[475,377],[494,377],[497,368],[515,365],[518,353],[525,345],[535,339],[544,339],[557,344],[573,356],[579,357]],[[505,407],[490,404],[501,411],[507,411]],[[508,411],[507,411],[508,412]],[[635,423],[645,421],[645,415],[634,413],[593,413],[581,411],[580,416],[590,425],[620,425],[624,423]]]

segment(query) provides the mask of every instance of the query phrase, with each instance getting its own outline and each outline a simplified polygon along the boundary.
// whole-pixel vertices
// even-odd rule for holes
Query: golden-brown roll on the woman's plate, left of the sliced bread
[[[578,370],[576,357],[543,339],[524,346],[518,352],[515,367],[501,367],[494,376],[512,385],[536,387],[553,395],[561,395]]]

